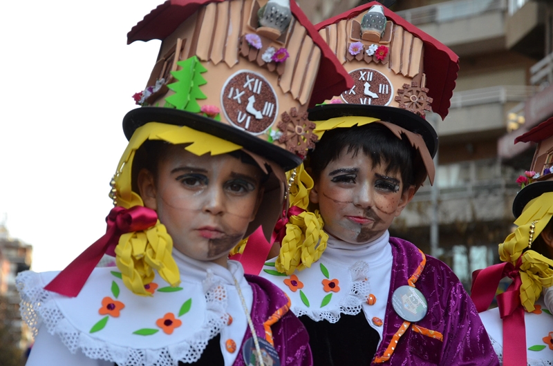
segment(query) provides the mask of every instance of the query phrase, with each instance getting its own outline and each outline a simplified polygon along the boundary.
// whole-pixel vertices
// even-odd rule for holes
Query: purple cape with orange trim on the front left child
[[[265,328],[263,323],[267,321],[278,309],[288,303],[286,295],[270,281],[259,276],[245,275],[254,293],[252,302],[252,322],[258,337],[264,338]],[[288,311],[282,318],[271,326],[274,349],[281,359],[281,366],[311,366],[311,349],[309,347],[309,335],[301,321]],[[252,338],[250,327],[247,327],[242,344]],[[245,366],[242,348],[234,361],[234,366]]]

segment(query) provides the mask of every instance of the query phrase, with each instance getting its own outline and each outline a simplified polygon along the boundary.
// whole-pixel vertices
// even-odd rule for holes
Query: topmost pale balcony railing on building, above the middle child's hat
[[[504,11],[506,0],[454,0],[435,5],[421,6],[397,12],[415,26],[427,23],[444,23],[456,19],[476,17],[483,12]]]

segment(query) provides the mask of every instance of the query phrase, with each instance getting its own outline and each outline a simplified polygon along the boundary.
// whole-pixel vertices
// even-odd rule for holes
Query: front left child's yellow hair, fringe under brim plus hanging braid
[[[131,167],[135,152],[147,139],[157,139],[171,144],[187,144],[185,150],[198,156],[205,153],[218,155],[236,151],[242,146],[225,141],[208,133],[196,131],[187,126],[174,126],[158,122],[149,122],[136,129],[126,146],[125,152],[115,173],[114,202],[117,206],[129,209],[144,206],[140,195],[132,191]],[[165,226],[158,222],[144,231],[134,231],[121,235],[115,247],[115,262],[122,273],[124,285],[133,293],[151,296],[144,285],[152,282],[156,269],[160,276],[172,287],[180,284],[180,273],[172,256],[173,239]]]

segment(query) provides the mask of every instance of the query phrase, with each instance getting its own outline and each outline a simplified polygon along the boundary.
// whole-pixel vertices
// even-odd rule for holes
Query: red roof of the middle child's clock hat
[[[357,17],[357,15],[368,10],[373,5],[382,4],[378,1],[371,1],[362,6],[357,6],[357,8],[353,8],[348,12],[343,12],[336,17],[322,21],[315,28],[320,30],[341,20]],[[433,112],[438,113],[444,119],[451,105],[449,99],[451,99],[453,89],[455,88],[455,80],[459,71],[459,57],[437,39],[422,32],[422,30],[413,26],[409,21],[406,21],[391,10],[388,10],[388,8],[383,8],[384,15],[388,19],[391,19],[398,26],[402,26],[408,32],[413,33],[413,35],[416,35],[424,42],[424,73],[427,74],[428,96],[433,98]]]

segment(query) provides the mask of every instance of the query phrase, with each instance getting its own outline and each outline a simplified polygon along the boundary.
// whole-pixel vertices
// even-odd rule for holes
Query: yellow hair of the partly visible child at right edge
[[[553,285],[553,260],[533,250],[525,251],[532,222],[538,220],[534,229],[536,238],[552,216],[553,192],[543,193],[526,204],[523,213],[514,222],[518,226],[516,231],[509,234],[505,242],[499,244],[499,258],[503,262],[515,265],[518,258],[522,259],[521,303],[526,311],[534,311],[534,303],[540,297],[543,287]]]

